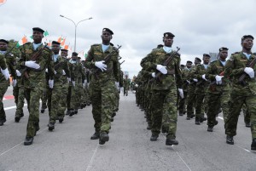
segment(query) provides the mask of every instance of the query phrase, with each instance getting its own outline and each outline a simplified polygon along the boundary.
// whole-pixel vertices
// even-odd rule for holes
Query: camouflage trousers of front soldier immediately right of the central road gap
[[[152,134],[160,134],[163,126],[167,130],[167,139],[176,138],[177,130],[177,88],[153,90],[152,92]]]

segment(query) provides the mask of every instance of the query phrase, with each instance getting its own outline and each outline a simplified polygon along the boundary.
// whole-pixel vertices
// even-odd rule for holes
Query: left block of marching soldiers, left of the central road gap
[[[6,122],[3,95],[11,75],[17,106],[15,122],[19,123],[24,116],[25,99],[29,111],[24,145],[32,145],[39,130],[39,111],[44,113],[48,108],[48,127],[53,131],[56,121],[63,122],[65,111],[72,117],[86,105],[92,105],[95,120],[95,134],[90,139],[99,139],[102,145],[108,141],[111,122],[119,111],[119,88],[123,85],[120,46],[116,48],[110,43],[112,36],[113,31],[104,28],[102,43],[90,47],[85,61],[80,61],[76,52],[67,59],[68,51],[61,49],[61,44],[56,41],[51,47],[44,45],[44,30],[39,27],[32,28],[33,43],[20,46],[19,56],[12,54],[15,47],[9,48],[9,41],[0,39],[0,126]]]

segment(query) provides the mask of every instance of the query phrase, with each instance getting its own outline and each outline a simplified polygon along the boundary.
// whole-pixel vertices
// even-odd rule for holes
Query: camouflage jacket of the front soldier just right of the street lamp
[[[90,46],[84,66],[92,69],[92,83],[107,83],[108,81],[117,82],[119,80],[118,53],[113,54],[108,61],[108,64],[106,64],[107,71],[101,71],[95,66],[96,61],[104,60],[104,58],[113,50],[114,47],[111,45],[109,45],[105,52],[102,51],[102,44],[94,44]]]

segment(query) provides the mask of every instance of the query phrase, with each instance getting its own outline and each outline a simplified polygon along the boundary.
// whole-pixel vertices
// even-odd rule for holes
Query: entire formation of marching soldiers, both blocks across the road
[[[13,78],[15,122],[24,116],[24,99],[29,118],[24,145],[32,145],[39,130],[39,112],[49,111],[49,131],[55,122],[62,123],[66,115],[72,117],[79,109],[92,105],[95,133],[90,140],[103,145],[109,140],[111,122],[119,111],[119,89],[128,95],[130,81],[121,71],[119,48],[110,43],[113,31],[102,30],[102,43],[90,46],[86,60],[80,61],[73,52],[67,59],[67,50],[53,41],[49,48],[42,43],[44,30],[32,29],[33,43],[20,46],[20,56],[11,53],[9,42],[0,40],[0,126],[6,122],[3,95]],[[177,116],[186,120],[195,117],[195,124],[207,121],[207,131],[218,125],[216,117],[223,112],[226,143],[234,145],[236,126],[241,111],[245,125],[251,128],[251,150],[256,151],[256,54],[252,53],[253,36],[241,37],[241,51],[228,57],[229,48],[219,48],[218,59],[209,54],[195,58],[183,66],[181,54],[172,48],[171,32],[164,33],[164,45],[158,45],[143,60],[142,70],[131,83],[136,90],[136,103],[145,113],[151,141],[160,132],[166,133],[166,145],[178,145]],[[9,50],[8,50],[9,49]],[[61,51],[61,54],[60,54]],[[202,63],[202,64],[201,64]],[[42,100],[41,110],[40,100]]]

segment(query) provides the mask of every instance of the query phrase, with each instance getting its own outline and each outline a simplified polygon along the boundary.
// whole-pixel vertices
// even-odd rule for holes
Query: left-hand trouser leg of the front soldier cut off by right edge
[[[230,94],[230,111],[225,123],[225,134],[230,137],[236,135],[236,127],[238,117],[240,115],[241,106],[245,103],[246,97]]]

